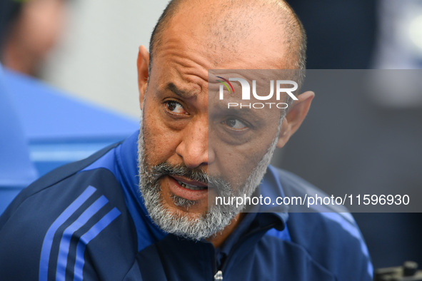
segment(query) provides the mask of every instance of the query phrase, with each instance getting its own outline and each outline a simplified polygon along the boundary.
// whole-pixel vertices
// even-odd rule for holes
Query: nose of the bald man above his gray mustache
[[[208,118],[191,121],[181,133],[183,136],[176,153],[183,158],[185,165],[189,168],[208,165]]]

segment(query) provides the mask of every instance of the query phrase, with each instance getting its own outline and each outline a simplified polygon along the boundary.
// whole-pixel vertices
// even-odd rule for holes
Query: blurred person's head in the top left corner
[[[58,41],[65,19],[63,0],[0,0],[0,61],[6,68],[38,76]]]

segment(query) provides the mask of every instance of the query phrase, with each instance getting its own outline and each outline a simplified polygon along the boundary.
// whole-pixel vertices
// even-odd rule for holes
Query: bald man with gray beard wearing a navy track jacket
[[[282,1],[171,1],[139,48],[140,130],[11,203],[2,280],[371,280],[348,213],[221,203],[322,194],[268,165],[311,105],[305,42]]]

